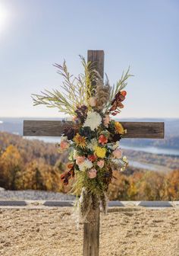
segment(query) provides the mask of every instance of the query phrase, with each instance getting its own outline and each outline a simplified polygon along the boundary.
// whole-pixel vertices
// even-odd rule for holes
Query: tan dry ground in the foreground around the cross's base
[[[82,256],[71,210],[0,210],[0,255]],[[100,256],[179,256],[179,210],[118,208],[100,219]]]

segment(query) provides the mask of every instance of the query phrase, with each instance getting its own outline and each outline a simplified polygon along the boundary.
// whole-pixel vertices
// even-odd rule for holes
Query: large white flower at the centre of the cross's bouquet
[[[83,127],[89,126],[91,130],[95,130],[102,123],[102,117],[95,111],[88,111]]]

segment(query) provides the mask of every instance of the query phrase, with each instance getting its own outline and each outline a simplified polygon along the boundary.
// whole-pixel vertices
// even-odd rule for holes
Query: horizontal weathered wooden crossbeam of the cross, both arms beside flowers
[[[121,122],[127,134],[124,138],[163,139],[163,122]],[[64,127],[73,126],[72,121],[24,120],[24,136],[61,136]]]

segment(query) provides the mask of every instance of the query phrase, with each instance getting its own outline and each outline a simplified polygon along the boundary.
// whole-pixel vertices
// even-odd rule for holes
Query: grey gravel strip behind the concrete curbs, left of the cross
[[[74,200],[68,194],[41,190],[0,190],[0,200]]]

